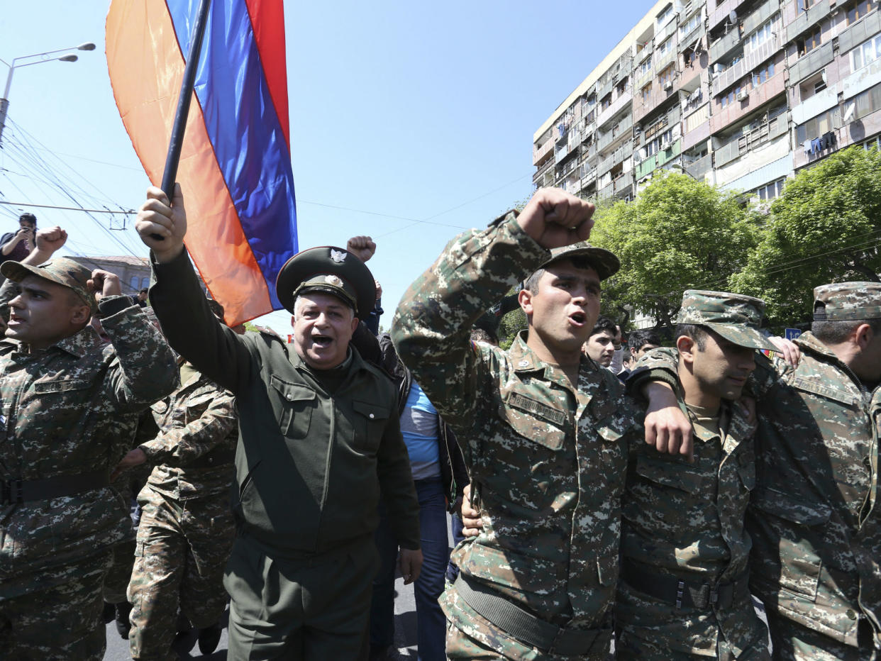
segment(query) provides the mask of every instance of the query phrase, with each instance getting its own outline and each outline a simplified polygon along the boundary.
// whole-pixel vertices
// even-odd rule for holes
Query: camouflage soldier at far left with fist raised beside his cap
[[[177,385],[173,353],[113,274],[47,261],[65,239],[41,230],[30,256],[0,267],[11,308],[0,341],[0,656],[15,659],[103,656],[101,584],[112,546],[131,535],[109,473],[137,413]],[[95,308],[112,345],[87,325]]]

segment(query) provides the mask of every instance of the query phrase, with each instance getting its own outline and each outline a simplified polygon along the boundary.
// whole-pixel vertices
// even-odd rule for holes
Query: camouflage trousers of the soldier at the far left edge
[[[37,579],[47,587],[0,599],[0,657],[100,661],[106,644],[101,585],[109,564],[107,551],[51,568]]]

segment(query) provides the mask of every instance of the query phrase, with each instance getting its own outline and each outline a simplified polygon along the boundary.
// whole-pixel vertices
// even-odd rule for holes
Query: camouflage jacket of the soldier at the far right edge
[[[757,355],[751,378],[759,413],[751,590],[767,609],[849,645],[865,618],[878,644],[881,392],[864,390],[810,332],[796,344],[797,368]]]

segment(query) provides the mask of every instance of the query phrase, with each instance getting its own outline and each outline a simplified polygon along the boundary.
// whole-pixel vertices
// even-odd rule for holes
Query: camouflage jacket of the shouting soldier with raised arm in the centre
[[[523,336],[508,352],[469,340],[471,324],[548,254],[513,214],[462,234],[404,294],[392,338],[465,439],[484,528],[456,552],[463,574],[539,618],[596,628],[618,581],[626,434],[635,409],[618,378],[586,357],[573,388]]]

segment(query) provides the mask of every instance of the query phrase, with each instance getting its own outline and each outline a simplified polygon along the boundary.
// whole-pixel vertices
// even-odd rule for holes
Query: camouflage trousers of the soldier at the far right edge
[[[860,622],[859,647],[852,647],[820,634],[777,613],[767,613],[774,661],[878,661],[881,654],[872,644],[870,624]]]

